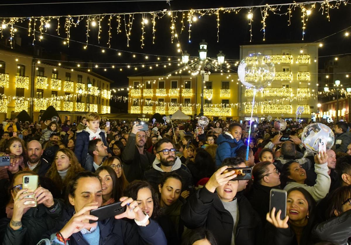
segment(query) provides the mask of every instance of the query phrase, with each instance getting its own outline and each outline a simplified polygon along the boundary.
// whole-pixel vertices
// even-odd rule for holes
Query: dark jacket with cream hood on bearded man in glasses
[[[175,158],[174,165],[171,168],[170,172],[178,173],[182,179],[181,186],[182,191],[187,190],[192,192],[193,190],[193,178],[189,169],[181,163],[179,157]],[[161,178],[166,172],[161,169],[161,162],[159,159],[155,158],[152,163],[152,168],[147,170],[144,175],[144,179],[148,181],[155,190],[158,190],[158,185]]]

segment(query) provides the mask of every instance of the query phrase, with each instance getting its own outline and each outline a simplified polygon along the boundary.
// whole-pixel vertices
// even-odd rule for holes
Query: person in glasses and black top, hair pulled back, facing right
[[[253,185],[247,199],[261,218],[262,224],[266,223],[266,214],[269,210],[271,189],[280,189],[280,173],[271,162],[260,162],[252,170]]]

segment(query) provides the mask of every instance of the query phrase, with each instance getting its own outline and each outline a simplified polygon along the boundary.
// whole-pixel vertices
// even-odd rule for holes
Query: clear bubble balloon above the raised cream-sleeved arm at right
[[[334,145],[335,136],[333,131],[323,123],[307,125],[301,134],[301,140],[306,149],[318,153],[318,139],[324,139],[326,148],[331,149]]]

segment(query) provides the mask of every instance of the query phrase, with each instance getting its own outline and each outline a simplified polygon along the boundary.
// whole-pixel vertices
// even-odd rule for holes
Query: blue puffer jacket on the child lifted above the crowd
[[[237,156],[237,150],[244,145],[240,139],[237,141],[229,135],[221,134],[217,138],[216,165],[220,166],[225,158]]]

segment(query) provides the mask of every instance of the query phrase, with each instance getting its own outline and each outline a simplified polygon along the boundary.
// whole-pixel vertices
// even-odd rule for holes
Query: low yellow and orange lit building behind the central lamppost
[[[187,115],[200,113],[201,76],[130,76],[128,113]],[[204,115],[211,120],[238,119],[237,75],[211,73],[204,83]],[[207,79],[206,79],[207,80]]]

